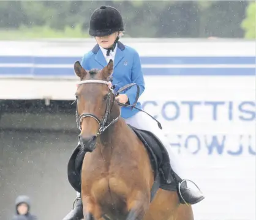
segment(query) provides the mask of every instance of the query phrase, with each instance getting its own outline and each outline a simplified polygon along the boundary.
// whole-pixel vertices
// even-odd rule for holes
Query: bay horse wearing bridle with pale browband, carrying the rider
[[[85,220],[193,220],[190,205],[176,191],[157,188],[151,201],[154,170],[137,134],[121,118],[116,94],[108,87],[113,61],[102,70],[75,62],[78,139],[89,151],[81,168]]]

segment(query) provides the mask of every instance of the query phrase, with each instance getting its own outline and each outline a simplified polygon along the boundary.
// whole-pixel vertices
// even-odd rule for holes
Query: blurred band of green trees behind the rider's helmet
[[[100,5],[112,5],[121,12],[125,34],[130,37],[243,37],[244,30],[253,23],[244,21],[241,28],[247,4],[248,1],[0,1],[0,39],[88,37],[89,18]],[[253,10],[255,4],[247,15]],[[252,20],[252,15],[247,19]],[[252,35],[250,32],[246,37]]]

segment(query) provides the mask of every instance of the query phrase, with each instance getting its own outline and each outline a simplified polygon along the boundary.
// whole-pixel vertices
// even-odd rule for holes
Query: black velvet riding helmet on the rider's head
[[[122,16],[111,6],[101,6],[94,10],[90,19],[89,35],[103,37],[117,31],[124,31]]]

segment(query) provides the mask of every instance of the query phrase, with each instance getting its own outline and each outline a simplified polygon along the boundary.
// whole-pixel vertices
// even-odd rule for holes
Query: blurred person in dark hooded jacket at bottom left
[[[31,203],[28,196],[18,196],[15,200],[15,216],[12,220],[37,220],[37,217],[30,213]]]

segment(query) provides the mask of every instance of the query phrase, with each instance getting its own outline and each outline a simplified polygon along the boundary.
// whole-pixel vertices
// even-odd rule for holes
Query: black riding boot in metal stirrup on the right
[[[205,199],[205,196],[203,196],[203,193],[201,193],[198,186],[192,182],[191,180],[182,180],[175,172],[173,172],[173,175],[175,176],[176,182],[178,182],[178,195],[181,201],[181,204],[190,204],[194,205],[198,202],[201,202],[201,200]],[[187,187],[187,181],[194,183],[195,186],[199,189],[199,191],[195,191],[194,189],[190,189]]]

